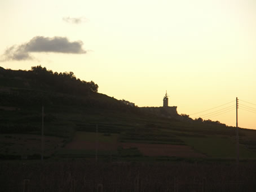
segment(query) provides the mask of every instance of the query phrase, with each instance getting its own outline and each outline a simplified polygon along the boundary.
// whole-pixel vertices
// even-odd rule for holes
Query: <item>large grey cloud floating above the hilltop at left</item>
[[[70,42],[66,37],[42,37],[36,36],[28,43],[7,48],[3,53],[4,60],[31,60],[31,52],[55,52],[55,53],[86,53],[82,48],[82,41]]]

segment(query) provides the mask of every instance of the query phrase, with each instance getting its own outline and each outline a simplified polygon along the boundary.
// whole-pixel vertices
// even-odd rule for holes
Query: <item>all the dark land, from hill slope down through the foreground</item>
[[[0,191],[256,191],[255,130],[239,128],[235,164],[234,127],[144,113],[45,74],[0,77]]]

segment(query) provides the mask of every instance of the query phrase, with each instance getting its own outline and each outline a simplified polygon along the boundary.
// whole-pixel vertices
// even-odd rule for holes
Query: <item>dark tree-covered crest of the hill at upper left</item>
[[[30,88],[40,88],[55,90],[62,93],[87,95],[90,92],[98,92],[98,84],[93,81],[86,82],[77,79],[73,72],[52,72],[41,65],[32,66],[31,70],[1,70],[2,78],[6,83]],[[21,80],[21,81],[19,81]],[[19,82],[19,83],[17,83]]]

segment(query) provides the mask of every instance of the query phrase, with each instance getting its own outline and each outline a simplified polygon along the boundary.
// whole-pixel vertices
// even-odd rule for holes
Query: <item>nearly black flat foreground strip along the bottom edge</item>
[[[255,191],[256,164],[1,162],[0,191]]]

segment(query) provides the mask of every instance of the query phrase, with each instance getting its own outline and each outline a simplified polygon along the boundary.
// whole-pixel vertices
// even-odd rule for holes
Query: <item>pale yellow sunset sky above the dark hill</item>
[[[256,129],[255,21],[255,0],[2,0],[0,66],[73,72],[138,106],[167,90],[179,114],[228,126],[238,97]]]

